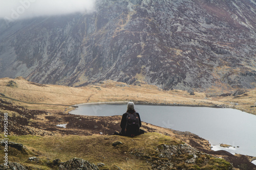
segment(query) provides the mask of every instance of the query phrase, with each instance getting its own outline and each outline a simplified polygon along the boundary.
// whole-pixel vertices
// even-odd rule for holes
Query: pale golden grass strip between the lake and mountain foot
[[[7,86],[13,81],[14,86]],[[0,93],[6,97],[28,102],[45,103],[56,105],[75,105],[94,102],[141,102],[166,105],[192,105],[192,106],[223,106],[256,114],[256,88],[248,90],[245,94],[226,97],[206,97],[206,93],[195,92],[189,95],[182,90],[164,91],[153,85],[140,84],[139,86],[127,85],[111,80],[101,84],[88,85],[84,87],[69,87],[60,85],[41,85],[29,82],[23,78],[0,79]],[[211,93],[221,94],[216,89],[208,90]],[[2,95],[0,95],[2,96]],[[13,101],[18,105],[29,109],[62,110],[64,106],[32,105]]]

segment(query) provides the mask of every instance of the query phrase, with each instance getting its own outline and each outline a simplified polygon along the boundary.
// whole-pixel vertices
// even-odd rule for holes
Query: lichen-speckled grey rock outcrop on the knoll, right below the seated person
[[[152,164],[153,169],[214,169],[210,166],[216,159],[191,147],[189,144],[160,145],[154,154],[144,155],[144,153],[132,151],[132,154],[141,159],[145,159]],[[155,156],[157,155],[157,156]],[[220,162],[224,160],[220,159]],[[205,167],[206,164],[209,166]],[[233,169],[231,164],[220,164],[219,169]]]

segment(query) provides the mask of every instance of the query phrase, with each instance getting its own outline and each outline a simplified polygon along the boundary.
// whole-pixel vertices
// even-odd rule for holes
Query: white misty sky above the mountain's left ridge
[[[0,0],[0,18],[17,20],[37,16],[93,12],[96,0]]]

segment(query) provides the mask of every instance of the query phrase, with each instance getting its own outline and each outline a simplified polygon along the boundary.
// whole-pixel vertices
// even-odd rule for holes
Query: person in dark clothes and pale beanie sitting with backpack
[[[122,115],[120,127],[122,129],[121,132],[119,134],[116,132],[115,134],[133,137],[144,133],[140,129],[140,115],[135,111],[133,102],[127,104],[127,111]]]

